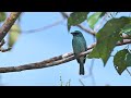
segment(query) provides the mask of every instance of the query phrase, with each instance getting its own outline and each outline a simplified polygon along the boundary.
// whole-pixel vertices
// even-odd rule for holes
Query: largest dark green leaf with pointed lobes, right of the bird
[[[106,65],[111,51],[116,47],[117,41],[121,40],[120,28],[131,23],[131,17],[122,16],[108,21],[105,26],[96,34],[97,44],[87,58],[100,58]]]

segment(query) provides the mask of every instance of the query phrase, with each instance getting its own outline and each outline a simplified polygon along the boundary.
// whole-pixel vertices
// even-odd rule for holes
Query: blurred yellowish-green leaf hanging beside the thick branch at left
[[[21,33],[21,30],[20,30],[19,25],[14,24],[11,27],[11,30],[9,33],[9,41],[8,41],[8,46],[9,47],[13,47],[13,45],[17,40],[17,37],[19,37],[20,33]]]

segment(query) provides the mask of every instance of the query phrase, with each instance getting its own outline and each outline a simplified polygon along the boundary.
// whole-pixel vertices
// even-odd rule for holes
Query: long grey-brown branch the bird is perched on
[[[126,44],[131,44],[131,39],[123,40],[122,42],[118,42],[117,46],[121,46],[121,45],[126,45]],[[95,47],[95,45],[96,44],[91,45],[87,48],[87,51],[81,52],[79,54],[79,57],[88,54],[92,51],[92,49]],[[75,57],[73,56],[72,52],[70,52],[70,53],[64,53],[64,54],[61,54],[58,57],[53,57],[53,58],[48,59],[48,60],[44,60],[41,62],[29,63],[29,64],[24,64],[24,65],[20,65],[20,66],[0,68],[0,73],[20,72],[20,71],[24,71],[24,70],[49,68],[49,66],[55,66],[55,65],[59,65],[59,64],[72,61],[74,59],[75,59]]]

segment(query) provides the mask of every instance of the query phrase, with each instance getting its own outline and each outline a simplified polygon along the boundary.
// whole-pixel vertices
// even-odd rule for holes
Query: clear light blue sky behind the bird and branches
[[[128,15],[129,13],[121,13]],[[61,21],[62,16],[59,12],[25,12],[21,17],[21,29],[29,30],[50,25]],[[86,22],[82,23],[86,25]],[[92,35],[85,33],[79,27],[71,27],[71,32],[81,30],[86,39],[86,44],[94,42]],[[115,48],[120,50],[126,46]],[[52,57],[72,52],[72,35],[68,33],[67,21],[36,33],[22,33],[14,45],[12,51],[0,53],[0,66],[17,66],[27,63],[39,62]],[[60,86],[66,85],[70,81],[71,86],[82,86],[79,79],[85,86],[129,86],[131,85],[131,76],[127,71],[119,75],[114,68],[112,59],[110,58],[104,66],[102,60],[95,59],[93,66],[93,75],[88,76],[88,70],[92,59],[85,62],[85,75],[79,75],[79,63],[76,60],[62,63],[60,65],[26,70],[22,72],[1,73],[1,85],[4,86]],[[129,71],[131,69],[129,68]]]

